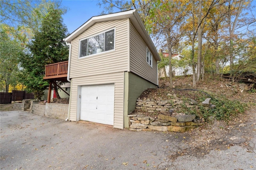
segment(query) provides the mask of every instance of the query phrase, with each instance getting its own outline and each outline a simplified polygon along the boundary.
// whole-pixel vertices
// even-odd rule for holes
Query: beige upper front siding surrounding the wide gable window
[[[70,78],[127,71],[129,19],[99,22],[72,40]],[[115,49],[79,58],[79,40],[115,28]]]

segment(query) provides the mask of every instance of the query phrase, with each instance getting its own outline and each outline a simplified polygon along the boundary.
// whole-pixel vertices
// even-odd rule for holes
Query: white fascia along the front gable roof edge
[[[88,20],[82,26],[80,26],[78,29],[76,29],[74,32],[72,32],[72,34],[70,34],[67,38],[65,38],[65,41],[68,43],[71,43],[71,41],[74,38],[76,38],[78,35],[82,34],[82,32],[84,32],[85,30],[90,28],[96,22],[131,18],[132,16],[134,16],[133,12],[135,12],[135,11],[136,10],[129,10],[129,11],[117,12],[117,13],[113,13],[113,14],[94,16],[94,17],[90,18],[90,20]]]

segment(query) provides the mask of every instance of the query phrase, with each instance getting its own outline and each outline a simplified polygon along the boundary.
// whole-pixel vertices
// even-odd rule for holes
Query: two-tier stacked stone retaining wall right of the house
[[[195,115],[172,115],[172,112],[179,112],[183,107],[198,109],[197,102],[190,99],[184,102],[176,97],[176,95],[168,94],[174,99],[170,100],[153,100],[153,99],[137,99],[136,110],[138,115],[128,115],[130,121],[130,130],[134,131],[170,131],[170,132],[185,132],[192,128],[203,125],[198,123]],[[155,113],[158,118],[146,117],[140,115],[140,112]],[[163,115],[164,114],[164,115]]]

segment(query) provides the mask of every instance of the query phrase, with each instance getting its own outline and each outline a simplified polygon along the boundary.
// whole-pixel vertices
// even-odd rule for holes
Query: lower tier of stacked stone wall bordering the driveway
[[[193,122],[195,115],[158,115],[158,119],[144,115],[128,115],[130,118],[130,130],[134,131],[164,131],[186,132],[192,128],[202,126],[203,123]]]

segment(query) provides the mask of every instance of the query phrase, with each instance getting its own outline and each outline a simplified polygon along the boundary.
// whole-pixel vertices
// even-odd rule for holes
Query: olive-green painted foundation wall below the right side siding
[[[129,115],[136,107],[136,100],[146,89],[155,89],[156,85],[142,77],[132,73],[124,72],[124,128],[129,128]]]

